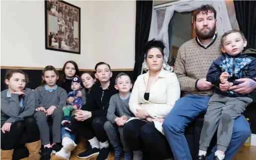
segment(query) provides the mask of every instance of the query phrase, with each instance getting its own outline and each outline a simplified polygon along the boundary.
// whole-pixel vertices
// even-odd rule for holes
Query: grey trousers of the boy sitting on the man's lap
[[[253,100],[249,97],[225,97],[214,94],[208,102],[199,141],[199,149],[207,151],[217,131],[217,149],[225,152],[231,141],[234,120],[241,115]]]

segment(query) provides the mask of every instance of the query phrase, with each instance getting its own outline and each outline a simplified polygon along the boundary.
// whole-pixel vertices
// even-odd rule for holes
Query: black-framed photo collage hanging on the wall
[[[81,54],[81,8],[45,0],[45,49]]]

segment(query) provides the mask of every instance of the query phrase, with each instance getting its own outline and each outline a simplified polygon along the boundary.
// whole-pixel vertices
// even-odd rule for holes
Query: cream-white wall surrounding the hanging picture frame
[[[81,8],[81,54],[45,50],[44,1],[1,0],[1,66],[62,68],[74,60],[82,69],[99,61],[133,68],[136,2],[67,2]]]

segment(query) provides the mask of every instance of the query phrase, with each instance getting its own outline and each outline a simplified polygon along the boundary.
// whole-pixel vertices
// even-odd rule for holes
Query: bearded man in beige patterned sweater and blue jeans
[[[175,160],[192,160],[184,129],[198,115],[206,112],[214,86],[206,81],[206,75],[212,62],[222,53],[221,36],[215,34],[217,19],[214,7],[202,5],[196,10],[194,17],[197,37],[179,48],[174,67],[183,97],[176,101],[163,123]],[[233,86],[230,90],[249,94],[256,89],[255,82],[251,79],[237,81],[243,83]],[[225,153],[225,160],[232,160],[249,134],[250,126],[244,115],[241,115],[234,122],[232,139]],[[215,151],[216,147],[212,150],[212,155],[208,156],[208,160],[213,160]]]

